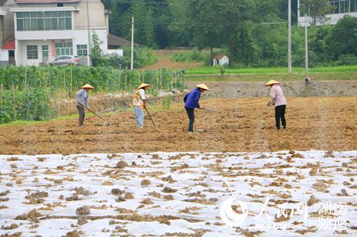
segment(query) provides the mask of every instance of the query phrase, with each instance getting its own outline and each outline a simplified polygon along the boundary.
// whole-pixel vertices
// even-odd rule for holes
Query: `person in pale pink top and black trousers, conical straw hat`
[[[283,90],[281,89],[280,83],[276,80],[269,80],[266,86],[270,86],[270,97],[271,100],[268,102],[268,106],[275,106],[275,123],[276,129],[280,130],[280,120],[283,124],[283,129],[286,129],[285,120],[285,110],[286,110],[286,98],[284,96]]]

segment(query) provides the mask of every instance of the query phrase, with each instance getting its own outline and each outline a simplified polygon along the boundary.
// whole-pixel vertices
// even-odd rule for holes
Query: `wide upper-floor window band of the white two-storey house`
[[[24,11],[16,13],[17,31],[64,31],[72,29],[71,11]]]

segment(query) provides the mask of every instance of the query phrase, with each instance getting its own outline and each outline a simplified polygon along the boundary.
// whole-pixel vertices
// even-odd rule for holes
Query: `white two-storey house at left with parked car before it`
[[[6,4],[11,6],[6,15],[13,19],[16,65],[39,65],[62,55],[80,56],[84,65],[90,65],[94,33],[107,53],[109,11],[104,0],[7,0]]]

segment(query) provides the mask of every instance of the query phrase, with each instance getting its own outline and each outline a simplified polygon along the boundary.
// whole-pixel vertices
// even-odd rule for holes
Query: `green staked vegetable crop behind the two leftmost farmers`
[[[53,115],[51,100],[74,98],[82,85],[96,92],[132,93],[141,82],[154,90],[183,89],[183,72],[173,70],[114,70],[104,67],[0,67],[0,123],[45,120]]]

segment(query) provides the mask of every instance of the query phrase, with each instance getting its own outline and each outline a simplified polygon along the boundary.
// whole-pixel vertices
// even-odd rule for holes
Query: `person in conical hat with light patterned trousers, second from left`
[[[146,110],[146,104],[148,102],[145,97],[145,91],[148,90],[150,86],[150,84],[141,83],[134,93],[134,115],[138,127],[144,126],[144,109]]]

